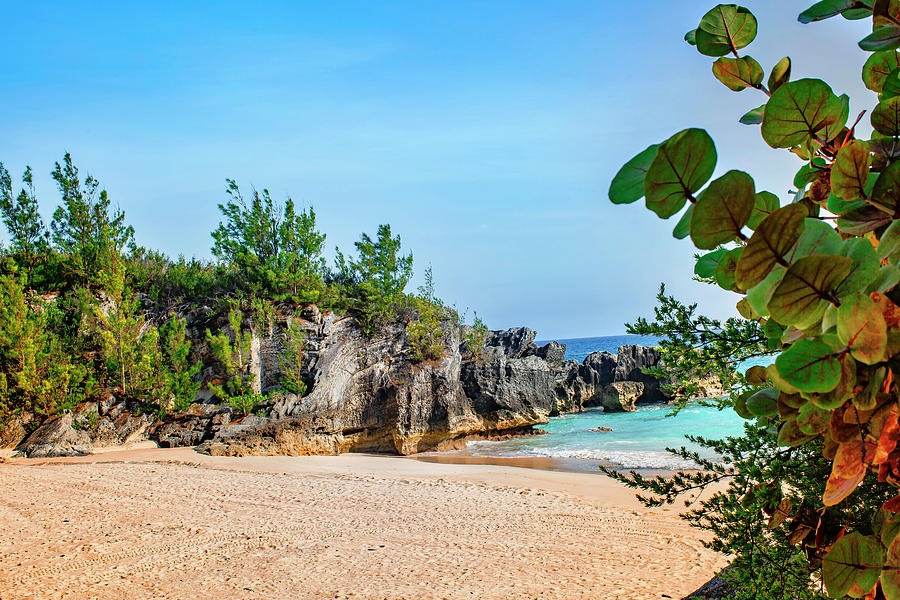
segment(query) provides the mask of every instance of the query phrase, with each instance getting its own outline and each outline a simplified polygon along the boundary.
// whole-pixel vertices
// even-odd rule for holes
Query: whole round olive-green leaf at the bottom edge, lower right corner
[[[881,544],[875,537],[858,532],[845,535],[822,560],[822,578],[828,595],[840,598],[853,588],[868,592],[881,575],[881,564]]]

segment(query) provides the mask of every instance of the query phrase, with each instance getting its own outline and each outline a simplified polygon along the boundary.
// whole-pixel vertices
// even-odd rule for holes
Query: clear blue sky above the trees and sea
[[[767,71],[790,55],[795,79],[870,109],[868,22],[796,23],[811,3],[745,2],[747,53]],[[620,333],[660,282],[728,316],[738,297],[690,281],[674,221],[606,197],[623,162],[694,126],[719,173],[786,198],[799,159],[737,123],[762,95],[722,86],[682,40],[713,4],[0,0],[0,161],[34,167],[49,217],[71,152],[171,255],[209,258],[227,177],[312,205],[329,259],[390,223],[413,286],[430,263],[438,294],[492,328]]]

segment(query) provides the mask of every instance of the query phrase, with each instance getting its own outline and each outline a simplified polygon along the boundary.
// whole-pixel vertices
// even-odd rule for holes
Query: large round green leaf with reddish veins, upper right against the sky
[[[790,148],[812,137],[831,140],[847,119],[843,100],[820,79],[798,79],[778,88],[766,104],[762,136],[773,148]]]

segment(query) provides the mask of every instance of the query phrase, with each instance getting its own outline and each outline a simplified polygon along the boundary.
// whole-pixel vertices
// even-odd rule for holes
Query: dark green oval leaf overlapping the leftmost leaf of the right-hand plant
[[[702,129],[685,129],[662,143],[644,179],[647,207],[663,219],[676,214],[689,195],[709,181],[716,146]]]

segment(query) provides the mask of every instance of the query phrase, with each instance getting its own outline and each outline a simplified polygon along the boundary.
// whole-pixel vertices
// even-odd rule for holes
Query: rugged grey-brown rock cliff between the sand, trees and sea
[[[204,383],[222,373],[204,341],[207,328],[225,327],[209,311],[187,315]],[[299,319],[306,332],[303,373],[308,393],[280,389],[285,329]],[[249,328],[249,327],[248,327]],[[659,352],[622,346],[581,363],[565,360],[565,346],[538,346],[526,327],[492,331],[480,352],[467,329],[443,323],[444,355],[413,360],[402,323],[367,337],[355,321],[315,305],[284,310],[265,330],[253,329],[251,370],[267,402],[242,416],[207,389],[184,414],[162,420],[137,403],[89,402],[47,420],[23,440],[27,423],[0,434],[5,447],[28,456],[87,454],[97,447],[152,439],[161,446],[198,446],[211,454],[413,454],[462,447],[471,439],[536,433],[549,417],[592,407],[634,410],[667,402],[662,382],[643,373]],[[721,393],[710,389],[709,395]]]

